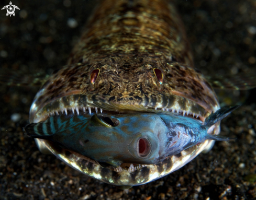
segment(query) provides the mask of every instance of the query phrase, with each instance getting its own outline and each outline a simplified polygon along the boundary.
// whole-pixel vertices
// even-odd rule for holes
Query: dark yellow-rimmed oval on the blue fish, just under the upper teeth
[[[119,125],[119,120],[112,118],[110,116],[94,114],[89,122],[89,126],[105,126],[105,127],[115,127]]]

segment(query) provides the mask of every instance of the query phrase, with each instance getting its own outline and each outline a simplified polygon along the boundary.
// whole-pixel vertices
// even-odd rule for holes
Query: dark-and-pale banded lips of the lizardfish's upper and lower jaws
[[[208,115],[206,110],[190,100],[186,100],[187,104],[185,104],[184,101],[181,103],[182,105],[180,107],[179,101],[177,101],[176,103],[173,103],[174,107],[161,107],[161,104],[158,103],[155,107],[146,108],[144,105],[116,105],[115,103],[109,103],[103,100],[95,102],[90,96],[71,95],[48,103],[33,115],[34,119],[30,119],[30,122],[38,123],[46,120],[51,115],[73,113],[74,115],[82,114],[93,116],[99,112],[103,114],[126,112],[172,112],[178,115],[193,117],[199,122],[204,122]],[[189,110],[183,110],[185,107],[189,108]],[[33,112],[33,110],[30,112]],[[214,128],[215,125],[211,129],[214,130]],[[90,175],[93,178],[114,185],[140,185],[161,178],[163,175],[184,166],[184,164],[192,160],[206,146],[206,144],[203,144],[201,147],[192,147],[190,150],[182,151],[182,157],[168,157],[163,162],[157,164],[122,163],[118,168],[107,169],[99,166],[96,161],[76,152],[61,148],[53,142],[43,139],[37,140],[42,145],[46,146],[55,156],[69,164],[69,166],[86,175]],[[198,151],[198,148],[201,148],[201,150]],[[172,163],[171,166],[170,163]]]

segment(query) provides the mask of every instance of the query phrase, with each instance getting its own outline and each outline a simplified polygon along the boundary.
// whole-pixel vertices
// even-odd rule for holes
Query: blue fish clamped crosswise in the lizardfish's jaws
[[[234,139],[210,135],[207,131],[238,107],[221,108],[203,124],[192,117],[161,112],[91,117],[59,115],[29,124],[25,130],[31,137],[51,140],[94,159],[102,167],[119,167],[121,163],[155,164],[206,139]]]

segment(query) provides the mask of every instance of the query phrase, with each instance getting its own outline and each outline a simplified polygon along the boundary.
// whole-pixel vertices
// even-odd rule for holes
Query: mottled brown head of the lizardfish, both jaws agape
[[[52,115],[88,114],[92,117],[97,113],[158,112],[172,112],[204,122],[209,113],[218,109],[216,95],[201,73],[184,64],[161,60],[142,60],[141,63],[127,60],[118,67],[107,62],[78,63],[55,72],[43,85],[31,105],[30,123],[45,121]],[[121,123],[127,128],[133,126],[133,122]],[[132,134],[145,133],[143,128],[138,126]],[[208,133],[218,134],[219,124]],[[141,140],[143,142],[147,140]],[[114,169],[106,169],[94,159],[49,140],[37,139],[37,144],[41,151],[48,149],[86,175],[113,185],[132,186],[159,179],[181,168],[201,151],[209,149],[213,142],[206,140],[157,164],[126,161]]]

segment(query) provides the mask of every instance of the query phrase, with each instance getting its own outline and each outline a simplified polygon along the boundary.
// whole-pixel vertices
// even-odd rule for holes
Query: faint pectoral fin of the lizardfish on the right
[[[256,87],[256,72],[237,75],[220,75],[207,78],[210,85],[217,89],[249,90]]]

